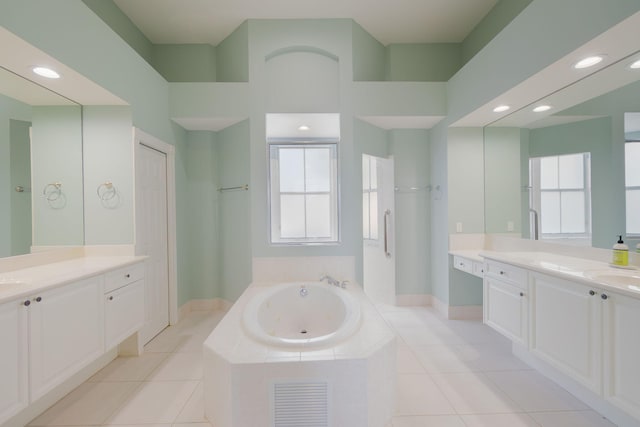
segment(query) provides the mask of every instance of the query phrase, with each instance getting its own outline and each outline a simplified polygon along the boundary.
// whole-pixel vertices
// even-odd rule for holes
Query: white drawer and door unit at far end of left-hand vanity
[[[144,325],[144,264],[115,270],[105,277],[105,349]]]

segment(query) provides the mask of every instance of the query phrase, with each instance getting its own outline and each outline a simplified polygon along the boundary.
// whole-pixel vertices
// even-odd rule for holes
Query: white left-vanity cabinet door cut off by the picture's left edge
[[[0,305],[0,425],[28,404],[27,337],[22,301]]]

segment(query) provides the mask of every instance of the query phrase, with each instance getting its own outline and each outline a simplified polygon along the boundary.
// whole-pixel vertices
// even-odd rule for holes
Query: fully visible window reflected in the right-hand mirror
[[[591,238],[589,153],[530,159],[531,206],[541,238]]]

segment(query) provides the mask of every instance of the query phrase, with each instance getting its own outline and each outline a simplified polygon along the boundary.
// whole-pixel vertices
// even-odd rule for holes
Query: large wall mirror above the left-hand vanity
[[[82,107],[0,67],[0,257],[84,243]]]

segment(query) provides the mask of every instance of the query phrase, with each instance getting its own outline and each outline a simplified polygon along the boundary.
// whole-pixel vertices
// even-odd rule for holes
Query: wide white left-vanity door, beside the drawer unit
[[[85,279],[32,298],[31,400],[103,354],[102,281],[102,276]]]

